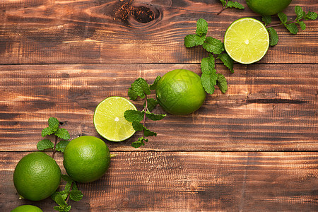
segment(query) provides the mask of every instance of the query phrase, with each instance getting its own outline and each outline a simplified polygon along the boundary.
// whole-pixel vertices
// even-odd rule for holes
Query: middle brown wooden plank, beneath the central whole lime
[[[173,69],[200,72],[199,64],[0,66],[0,151],[34,151],[49,117],[66,122],[71,138],[98,136],[93,113],[100,101],[128,98],[136,78],[152,83]],[[216,69],[228,78],[228,92],[207,95],[193,114],[147,122],[158,136],[141,151],[318,150],[317,65],[239,65],[233,74]],[[134,104],[141,109],[141,100]],[[134,151],[130,145],[138,136],[107,144]]]

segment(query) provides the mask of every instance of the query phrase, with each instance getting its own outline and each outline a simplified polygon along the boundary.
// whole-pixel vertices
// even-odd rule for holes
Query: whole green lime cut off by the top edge
[[[262,16],[271,16],[283,11],[292,0],[246,0],[247,6]]]

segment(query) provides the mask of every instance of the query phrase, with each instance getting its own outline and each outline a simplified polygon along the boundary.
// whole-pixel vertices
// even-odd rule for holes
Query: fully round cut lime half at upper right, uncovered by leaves
[[[235,20],[225,32],[224,47],[228,55],[241,64],[252,64],[269,49],[269,32],[254,18]]]

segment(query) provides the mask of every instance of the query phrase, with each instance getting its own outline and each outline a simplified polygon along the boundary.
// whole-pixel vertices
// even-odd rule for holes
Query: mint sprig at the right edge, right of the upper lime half
[[[278,13],[277,16],[279,20],[281,20],[281,23],[275,24],[275,25],[269,25],[271,23],[271,16],[263,16],[261,20],[263,20],[264,24],[266,25],[267,30],[269,31],[269,45],[275,46],[278,43],[278,35],[276,30],[273,27],[281,26],[283,25],[291,34],[297,34],[299,32],[299,28],[301,30],[306,29],[306,24],[304,20],[316,20],[317,13],[308,11],[307,13],[303,11],[303,9],[296,5],[295,6],[295,19],[292,21],[288,21],[288,16],[281,12]]]

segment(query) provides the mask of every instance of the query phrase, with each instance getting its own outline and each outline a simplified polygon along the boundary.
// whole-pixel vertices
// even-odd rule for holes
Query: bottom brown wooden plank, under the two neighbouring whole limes
[[[78,184],[84,198],[70,202],[74,211],[317,210],[317,153],[117,153],[104,177]],[[51,199],[18,199],[12,176],[25,154],[0,152],[0,210],[52,211]]]

